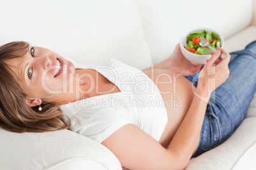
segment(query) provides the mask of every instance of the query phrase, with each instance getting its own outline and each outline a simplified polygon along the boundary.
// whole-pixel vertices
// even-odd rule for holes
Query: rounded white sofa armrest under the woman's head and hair
[[[0,138],[1,169],[122,169],[104,145],[69,130],[11,133],[0,129]]]

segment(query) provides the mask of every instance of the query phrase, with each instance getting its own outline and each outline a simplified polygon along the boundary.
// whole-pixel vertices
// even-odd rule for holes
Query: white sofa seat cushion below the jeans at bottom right
[[[239,167],[254,169],[256,167],[255,124],[256,117],[246,118],[227,141],[217,148],[191,159],[186,169],[213,170],[239,169]],[[250,164],[246,164],[246,162],[250,162]]]

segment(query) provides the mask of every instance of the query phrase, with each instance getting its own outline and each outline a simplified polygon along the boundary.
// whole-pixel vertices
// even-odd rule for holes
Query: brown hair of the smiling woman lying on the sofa
[[[20,87],[9,65],[4,61],[24,56],[29,43],[10,42],[0,46],[0,127],[12,132],[45,132],[68,129],[60,106],[55,103],[41,103],[38,107],[29,107],[25,102],[27,94]]]

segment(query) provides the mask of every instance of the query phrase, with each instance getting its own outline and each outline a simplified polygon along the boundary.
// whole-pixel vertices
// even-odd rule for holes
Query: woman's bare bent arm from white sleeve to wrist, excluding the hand
[[[185,169],[199,139],[206,105],[194,97],[167,149],[132,124],[118,129],[102,144],[128,169]]]

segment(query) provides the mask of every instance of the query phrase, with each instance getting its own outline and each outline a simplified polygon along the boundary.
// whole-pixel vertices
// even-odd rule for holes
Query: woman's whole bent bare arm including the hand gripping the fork
[[[102,142],[117,156],[122,166],[129,169],[185,169],[197,148],[211,92],[229,75],[227,64],[230,55],[224,50],[222,52],[227,58],[213,65],[220,56],[218,51],[204,66],[190,108],[167,149],[132,124],[123,126]],[[210,79],[215,79],[215,82]]]

